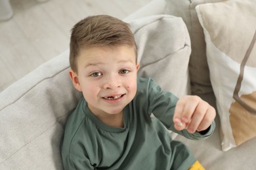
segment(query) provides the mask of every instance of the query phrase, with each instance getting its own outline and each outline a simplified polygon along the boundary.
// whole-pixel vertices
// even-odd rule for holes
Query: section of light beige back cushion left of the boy
[[[0,93],[0,169],[62,169],[64,122],[81,98],[68,67],[66,51]]]

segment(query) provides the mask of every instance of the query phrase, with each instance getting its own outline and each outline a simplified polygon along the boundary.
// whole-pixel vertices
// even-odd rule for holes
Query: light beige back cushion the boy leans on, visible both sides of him
[[[142,76],[165,90],[188,93],[190,39],[181,18],[131,21]],[[62,169],[60,141],[81,93],[68,76],[68,50],[0,93],[0,169]]]

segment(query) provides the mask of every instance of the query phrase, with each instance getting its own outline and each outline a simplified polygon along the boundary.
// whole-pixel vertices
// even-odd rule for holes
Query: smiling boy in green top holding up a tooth
[[[215,109],[200,97],[177,99],[151,78],[137,78],[137,45],[128,24],[111,16],[75,24],[70,66],[83,99],[66,122],[64,169],[203,169],[167,129],[205,139],[213,133]]]

